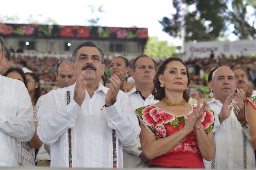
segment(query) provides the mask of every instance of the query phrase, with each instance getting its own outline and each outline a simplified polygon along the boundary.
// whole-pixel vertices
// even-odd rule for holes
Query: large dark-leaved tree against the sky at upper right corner
[[[255,0],[173,0],[172,3],[176,12],[159,21],[170,36],[216,40],[234,33],[240,39],[256,38]]]

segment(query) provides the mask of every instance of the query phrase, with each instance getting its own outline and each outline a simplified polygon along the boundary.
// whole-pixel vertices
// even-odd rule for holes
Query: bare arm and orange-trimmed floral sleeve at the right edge
[[[245,121],[248,122],[251,144],[253,148],[256,149],[256,96],[247,98],[244,101],[244,116]]]

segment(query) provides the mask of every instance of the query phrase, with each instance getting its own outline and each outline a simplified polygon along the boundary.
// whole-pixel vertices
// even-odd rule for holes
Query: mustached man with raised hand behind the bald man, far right
[[[251,97],[252,95],[256,94],[256,91],[253,90],[253,84],[249,83],[249,74],[247,70],[239,68],[234,71],[235,74],[235,81],[237,82],[236,88],[237,89],[244,89],[245,91],[245,98]]]

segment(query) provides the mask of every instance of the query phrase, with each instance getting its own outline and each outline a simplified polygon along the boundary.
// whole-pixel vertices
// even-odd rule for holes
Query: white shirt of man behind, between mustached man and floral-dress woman
[[[133,110],[159,102],[158,100],[154,99],[152,94],[150,94],[147,98],[143,98],[135,86],[130,92],[125,94],[130,98],[131,104],[133,105]],[[123,146],[124,168],[148,167],[145,163],[143,163],[143,161],[141,161],[139,157],[142,153],[142,150],[138,149],[139,146],[141,146],[139,137],[132,144]]]

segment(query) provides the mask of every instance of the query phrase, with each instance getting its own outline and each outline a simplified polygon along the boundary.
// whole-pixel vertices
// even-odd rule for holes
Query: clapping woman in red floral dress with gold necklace
[[[214,114],[188,104],[189,73],[179,58],[168,58],[154,78],[155,100],[160,102],[136,109],[140,120],[140,143],[152,162],[149,167],[204,168],[203,158],[212,160]]]

